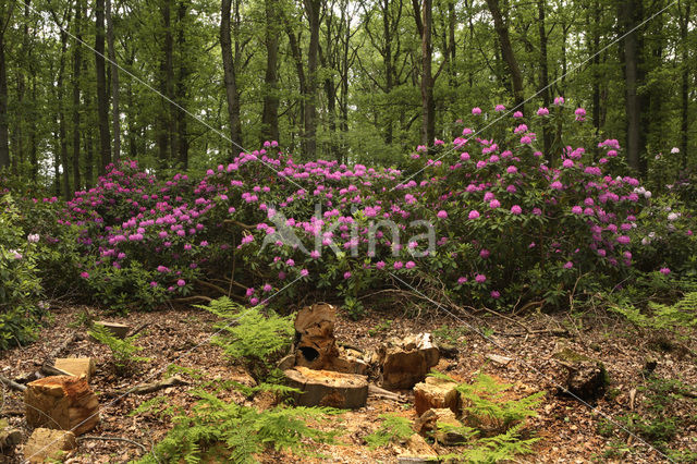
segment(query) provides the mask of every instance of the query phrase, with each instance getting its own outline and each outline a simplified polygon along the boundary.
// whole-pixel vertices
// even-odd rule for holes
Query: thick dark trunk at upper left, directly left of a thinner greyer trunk
[[[97,71],[97,125],[99,126],[99,174],[111,162],[111,143],[109,135],[109,99],[107,97],[107,73],[105,66],[105,0],[97,0],[95,16],[95,69]]]

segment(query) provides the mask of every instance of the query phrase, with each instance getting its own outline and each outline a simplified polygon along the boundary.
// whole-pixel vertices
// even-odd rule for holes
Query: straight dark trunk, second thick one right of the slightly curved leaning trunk
[[[317,59],[319,54],[320,0],[303,0],[309,20],[307,47],[307,87],[305,95],[305,149],[306,159],[315,159],[317,152]]]

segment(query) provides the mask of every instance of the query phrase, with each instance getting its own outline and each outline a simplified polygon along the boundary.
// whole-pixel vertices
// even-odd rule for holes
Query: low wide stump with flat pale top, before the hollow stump
[[[284,371],[288,384],[301,390],[293,399],[298,406],[363,407],[368,398],[368,380],[357,374],[315,370],[304,366]]]

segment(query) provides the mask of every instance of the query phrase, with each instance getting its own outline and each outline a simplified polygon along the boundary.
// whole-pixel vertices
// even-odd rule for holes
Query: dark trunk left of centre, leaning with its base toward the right
[[[232,38],[230,37],[230,10],[232,0],[222,0],[220,15],[220,49],[222,52],[222,70],[228,98],[228,123],[230,124],[230,139],[237,148],[242,146],[242,122],[240,120],[240,94],[237,91],[237,75],[232,54]]]

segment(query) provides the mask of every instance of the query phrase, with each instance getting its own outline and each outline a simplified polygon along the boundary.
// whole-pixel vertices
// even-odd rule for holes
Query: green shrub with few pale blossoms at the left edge
[[[0,351],[30,342],[47,305],[36,269],[38,235],[24,235],[10,195],[0,196]]]

